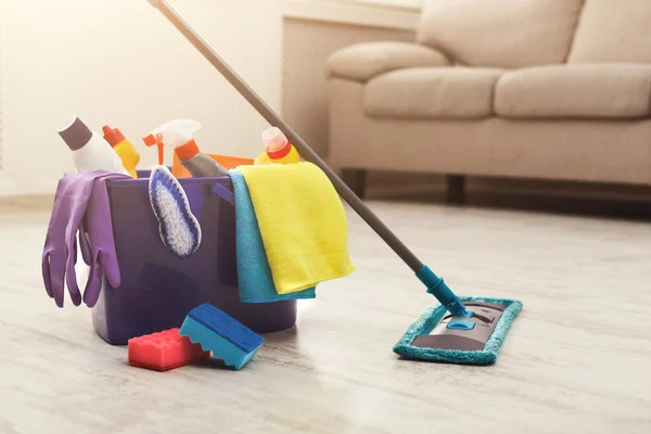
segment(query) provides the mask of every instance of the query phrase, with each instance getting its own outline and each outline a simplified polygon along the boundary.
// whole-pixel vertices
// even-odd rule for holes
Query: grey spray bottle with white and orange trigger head
[[[193,139],[194,132],[201,124],[189,119],[175,119],[162,125],[145,137],[144,143],[149,146],[158,144],[158,163],[163,159],[162,149],[173,146],[180,163],[193,177],[220,177],[227,176],[228,170],[219,163],[199,150]]]

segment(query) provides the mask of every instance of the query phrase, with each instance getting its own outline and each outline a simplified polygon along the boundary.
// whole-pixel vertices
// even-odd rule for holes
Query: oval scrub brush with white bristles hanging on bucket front
[[[167,167],[156,166],[152,170],[149,196],[163,244],[180,258],[190,257],[201,244],[201,226],[183,188]]]

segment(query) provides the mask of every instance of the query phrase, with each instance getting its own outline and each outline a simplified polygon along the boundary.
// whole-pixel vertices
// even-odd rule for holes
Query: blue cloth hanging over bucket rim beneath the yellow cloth
[[[242,303],[272,303],[316,298],[315,288],[290,294],[278,294],[244,175],[237,169],[229,170],[229,175],[235,194],[235,245],[240,301]]]

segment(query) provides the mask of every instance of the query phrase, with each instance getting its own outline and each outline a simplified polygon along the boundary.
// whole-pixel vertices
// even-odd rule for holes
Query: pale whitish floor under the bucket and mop
[[[398,359],[431,304],[353,213],[357,271],[240,372],[126,363],[90,312],[44,292],[43,206],[0,208],[0,433],[650,433],[651,229],[644,221],[371,202],[461,295],[524,310],[492,367]]]

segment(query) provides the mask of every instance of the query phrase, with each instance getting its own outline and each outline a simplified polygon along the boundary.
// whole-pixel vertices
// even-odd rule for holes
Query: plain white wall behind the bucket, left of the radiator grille
[[[279,1],[170,3],[279,110]],[[196,140],[204,151],[254,156],[261,149],[265,120],[146,0],[0,0],[0,38],[9,193],[53,192],[74,168],[55,131],[68,114],[98,131],[120,128],[143,165],[155,164],[156,151],[141,137],[175,117],[203,124]]]

